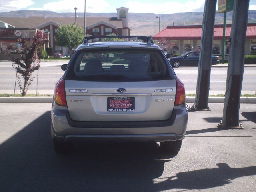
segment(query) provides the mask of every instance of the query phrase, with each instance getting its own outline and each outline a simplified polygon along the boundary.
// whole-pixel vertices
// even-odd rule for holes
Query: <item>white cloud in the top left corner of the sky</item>
[[[32,0],[1,0],[0,12],[21,10],[33,4],[34,2]]]

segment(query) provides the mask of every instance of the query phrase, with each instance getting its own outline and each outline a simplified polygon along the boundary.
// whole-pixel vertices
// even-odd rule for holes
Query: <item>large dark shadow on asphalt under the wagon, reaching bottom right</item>
[[[224,163],[174,173],[170,168],[177,154],[166,156],[156,143],[80,143],[72,153],[57,155],[50,116],[50,111],[44,113],[0,145],[0,191],[207,189],[256,174],[256,166],[230,168]],[[166,163],[170,176],[162,178]]]

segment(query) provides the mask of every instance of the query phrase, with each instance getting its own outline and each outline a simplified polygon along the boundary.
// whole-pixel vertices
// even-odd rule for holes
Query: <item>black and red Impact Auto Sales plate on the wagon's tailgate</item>
[[[108,111],[135,111],[135,97],[108,97]]]

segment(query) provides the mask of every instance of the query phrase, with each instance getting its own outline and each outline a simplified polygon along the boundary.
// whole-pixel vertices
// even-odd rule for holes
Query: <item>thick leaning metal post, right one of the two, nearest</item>
[[[234,0],[222,126],[238,127],[249,0]]]

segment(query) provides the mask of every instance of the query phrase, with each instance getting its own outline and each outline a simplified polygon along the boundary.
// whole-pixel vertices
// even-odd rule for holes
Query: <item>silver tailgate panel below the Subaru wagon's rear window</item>
[[[176,81],[88,82],[66,80],[68,112],[77,121],[150,121],[170,118]],[[118,93],[125,89],[126,92]],[[172,92],[154,92],[168,88]],[[71,93],[73,90],[88,93]],[[70,92],[71,90],[71,92]]]

